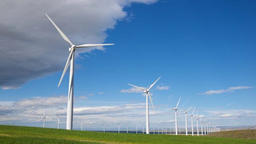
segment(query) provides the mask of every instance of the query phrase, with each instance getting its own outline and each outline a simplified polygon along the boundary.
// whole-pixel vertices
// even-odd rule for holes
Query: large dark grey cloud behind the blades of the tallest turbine
[[[73,43],[103,43],[108,36],[106,30],[114,29],[118,20],[127,17],[125,6],[156,1],[1,0],[0,87],[16,89],[29,80],[63,69],[69,45],[45,13]],[[102,47],[78,49],[76,58],[93,49],[104,50]]]

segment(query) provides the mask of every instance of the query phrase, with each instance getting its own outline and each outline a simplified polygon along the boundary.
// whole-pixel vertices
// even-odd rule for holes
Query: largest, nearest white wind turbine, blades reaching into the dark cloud
[[[57,29],[57,31],[60,33],[61,37],[66,40],[70,44],[69,52],[70,55],[67,58],[67,63],[65,65],[65,68],[63,70],[63,73],[61,75],[61,79],[59,81],[58,87],[61,84],[62,78],[65,75],[65,72],[67,71],[67,68],[70,64],[70,81],[69,81],[69,90],[68,90],[68,102],[67,102],[67,130],[73,129],[73,82],[74,82],[74,53],[76,48],[83,48],[83,47],[91,47],[91,46],[107,46],[107,45],[113,45],[113,44],[83,44],[83,45],[73,45],[71,41],[67,38],[67,36],[61,31],[61,29],[58,28],[58,26],[51,20],[51,18],[46,14],[46,16],[49,18],[49,20],[52,22],[53,26]]]

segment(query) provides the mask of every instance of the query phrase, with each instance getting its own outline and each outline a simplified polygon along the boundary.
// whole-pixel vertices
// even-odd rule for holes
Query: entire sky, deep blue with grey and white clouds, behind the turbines
[[[66,125],[69,73],[57,88],[69,45],[77,49],[74,129],[145,124],[152,88],[151,127],[174,127],[174,111],[196,107],[217,126],[256,125],[255,1],[2,0],[0,5],[0,124]],[[190,120],[189,120],[190,121]],[[190,124],[190,123],[189,123]],[[178,117],[179,127],[184,120]]]

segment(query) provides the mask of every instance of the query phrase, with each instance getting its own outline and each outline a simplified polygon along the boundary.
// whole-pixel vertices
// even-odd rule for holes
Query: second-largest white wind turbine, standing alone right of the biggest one
[[[159,77],[159,78],[157,79],[157,81],[158,81],[160,78],[161,78],[161,77]],[[143,91],[146,93],[146,133],[147,133],[147,134],[149,134],[148,95],[149,95],[149,99],[150,99],[150,101],[151,101],[152,108],[154,109],[153,101],[152,101],[152,98],[151,98],[151,95],[150,95],[149,91],[150,91],[150,89],[154,86],[154,84],[156,84],[157,81],[155,81],[153,84],[151,84],[151,86],[149,87],[149,89],[144,89],[144,88],[139,87],[139,86],[134,86],[134,85],[132,85],[132,84],[128,84],[128,85],[130,85],[130,86],[134,86],[134,87],[136,87],[136,88],[138,88],[138,89],[141,89],[141,90],[143,90]]]

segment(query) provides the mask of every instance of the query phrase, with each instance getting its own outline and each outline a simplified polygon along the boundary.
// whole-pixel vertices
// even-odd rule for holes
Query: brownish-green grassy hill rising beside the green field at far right
[[[230,131],[211,133],[207,136],[224,137],[224,138],[246,138],[246,139],[256,140],[256,130],[230,130]]]

